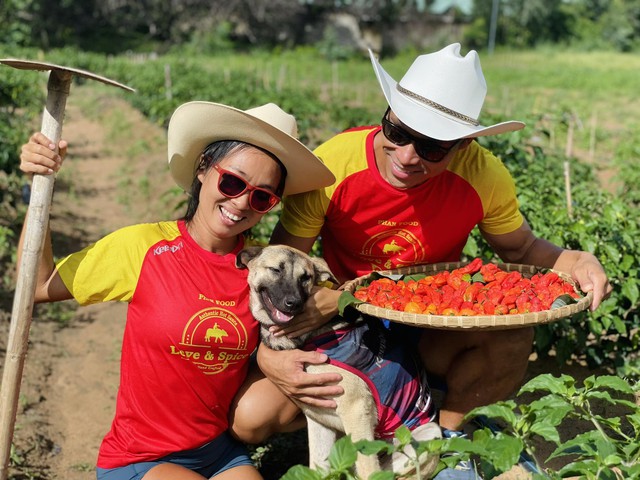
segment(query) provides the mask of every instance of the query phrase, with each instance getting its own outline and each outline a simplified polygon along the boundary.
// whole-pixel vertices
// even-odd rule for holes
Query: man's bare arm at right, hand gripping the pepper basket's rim
[[[526,220],[511,233],[493,235],[482,232],[482,235],[505,262],[553,268],[571,275],[583,292],[593,292],[591,310],[598,308],[611,293],[607,274],[593,254],[566,250],[536,237]]]

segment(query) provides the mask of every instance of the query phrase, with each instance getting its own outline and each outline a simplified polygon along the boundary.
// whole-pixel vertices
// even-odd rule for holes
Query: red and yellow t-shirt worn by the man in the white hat
[[[321,236],[324,258],[341,282],[373,270],[458,261],[476,225],[490,234],[522,225],[511,175],[477,142],[459,150],[441,175],[402,190],[376,167],[378,132],[351,129],[320,145],[314,153],[336,182],[286,198],[280,217],[293,235]]]

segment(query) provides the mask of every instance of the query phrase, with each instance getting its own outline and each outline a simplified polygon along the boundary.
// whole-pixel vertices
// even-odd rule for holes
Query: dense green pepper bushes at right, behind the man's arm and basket
[[[629,373],[634,366],[637,370],[636,352],[640,344],[640,244],[635,241],[640,235],[638,204],[633,198],[628,201],[602,190],[592,165],[533,146],[522,132],[483,137],[479,141],[502,158],[513,175],[521,210],[534,233],[564,248],[593,253],[604,266],[613,287],[610,298],[595,312],[536,327],[536,352],[545,356],[554,351],[561,364],[580,356],[591,367],[606,365],[622,373]],[[571,211],[566,204],[565,161],[570,163]],[[468,259],[493,257],[477,230],[464,253]]]

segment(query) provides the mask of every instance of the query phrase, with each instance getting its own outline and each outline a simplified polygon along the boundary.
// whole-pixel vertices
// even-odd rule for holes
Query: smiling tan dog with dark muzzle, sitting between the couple
[[[349,331],[358,325],[364,326],[364,321],[347,322],[341,317],[335,319],[314,332],[297,338],[286,336],[274,337],[269,331],[273,325],[284,325],[296,314],[304,309],[304,305],[311,295],[312,288],[322,282],[337,283],[324,260],[314,258],[291,247],[271,245],[268,247],[250,247],[238,253],[236,259],[238,268],[248,268],[248,282],[251,291],[251,311],[260,323],[262,341],[274,350],[303,348],[309,341],[341,331]],[[362,320],[362,319],[360,319]],[[366,327],[365,327],[366,328]],[[371,337],[372,332],[365,335]],[[377,334],[377,333],[376,333]],[[381,334],[382,335],[382,334]],[[382,350],[386,339],[381,337]],[[381,353],[384,353],[381,350]],[[328,353],[329,354],[329,353]],[[329,354],[330,355],[330,354]],[[330,355],[331,356],[331,355]],[[379,359],[381,363],[387,359]],[[340,385],[344,394],[336,398],[337,408],[317,408],[304,403],[298,403],[307,417],[309,433],[309,466],[328,467],[327,458],[332,445],[339,436],[351,435],[353,441],[374,440],[378,427],[378,404],[367,381],[363,380],[354,370],[344,369],[334,364],[309,365],[307,371],[338,372],[342,375]],[[425,412],[430,407],[426,377],[424,389],[421,388],[420,401],[424,403]],[[423,391],[424,390],[424,391]],[[420,425],[419,440],[439,438],[439,426],[433,423]],[[411,448],[406,452],[415,456]],[[411,473],[411,465],[407,468],[407,457],[402,453],[394,454],[392,461],[386,468],[392,468],[396,473],[406,475]],[[432,472],[438,463],[438,458],[425,456],[421,458],[421,473]],[[393,465],[390,465],[393,463]],[[358,454],[356,472],[360,478],[368,478],[373,472],[379,471],[380,461],[375,455]],[[426,477],[425,477],[426,478]]]

